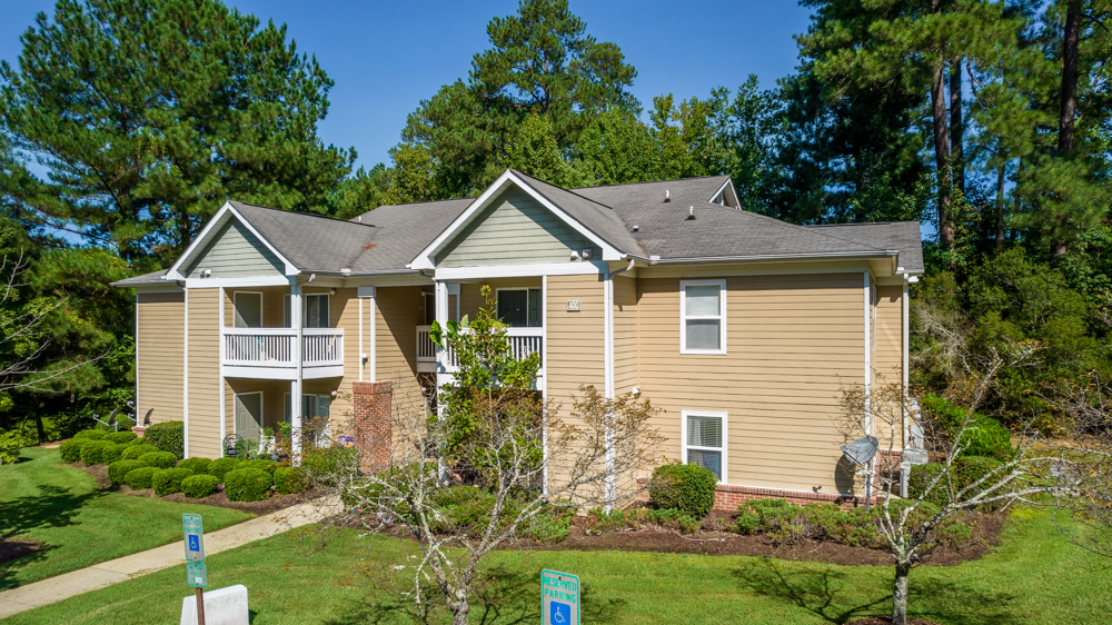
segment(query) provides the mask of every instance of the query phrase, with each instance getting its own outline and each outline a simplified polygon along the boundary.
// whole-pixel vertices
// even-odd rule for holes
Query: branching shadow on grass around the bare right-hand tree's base
[[[875,599],[854,605],[851,595],[856,594],[856,588],[852,572],[785,567],[778,560],[764,558],[734,571],[733,575],[746,589],[788,601],[827,623],[887,616],[892,611],[892,594],[887,591],[881,592]],[[932,577],[916,579],[912,572],[907,607],[909,616],[960,625],[996,625],[1016,622],[1010,609],[1015,598],[1007,593],[982,593]],[[922,609],[927,601],[934,609]],[[961,611],[939,609],[940,602],[961,606]]]

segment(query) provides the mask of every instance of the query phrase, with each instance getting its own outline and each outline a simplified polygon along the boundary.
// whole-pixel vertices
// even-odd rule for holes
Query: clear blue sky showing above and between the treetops
[[[336,81],[320,136],[355,147],[366,167],[388,159],[421,99],[466,77],[471,56],[489,47],[490,18],[517,10],[517,0],[226,2],[285,22],[298,50],[317,56]],[[683,99],[736,88],[749,73],[774,86],[793,71],[792,36],[808,22],[808,11],[790,0],[570,0],[570,8],[637,68],[632,91],[645,105],[668,92]],[[52,0],[3,2],[0,58],[14,62],[19,36],[37,12],[52,9]]]

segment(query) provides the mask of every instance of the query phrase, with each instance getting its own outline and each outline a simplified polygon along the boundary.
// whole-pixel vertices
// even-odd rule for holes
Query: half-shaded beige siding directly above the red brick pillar
[[[417,389],[417,326],[425,320],[421,291],[419,286],[375,289],[375,376],[393,380],[399,398]]]

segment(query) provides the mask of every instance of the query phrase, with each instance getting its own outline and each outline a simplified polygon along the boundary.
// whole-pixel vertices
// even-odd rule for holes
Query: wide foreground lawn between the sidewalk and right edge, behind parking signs
[[[217,554],[210,588],[245,584],[252,625],[408,623],[384,572],[413,545],[301,528]],[[953,567],[912,572],[911,615],[944,624],[1096,624],[1112,612],[1109,566],[1069,544],[1044,509],[1013,514],[1001,547]],[[503,552],[490,556],[471,623],[539,621],[540,569],[583,581],[586,623],[844,623],[891,609],[892,569],[741,556]],[[398,575],[397,573],[393,573]],[[376,582],[376,579],[378,582]],[[398,579],[400,582],[400,579]],[[6,625],[176,622],[189,595],[173,567],[22,613]],[[430,618],[444,623],[443,613]]]

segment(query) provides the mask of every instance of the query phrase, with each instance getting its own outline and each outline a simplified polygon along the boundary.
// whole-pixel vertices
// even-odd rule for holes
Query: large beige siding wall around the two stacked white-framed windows
[[[667,457],[682,410],[727,413],[724,482],[837,492],[832,418],[840,385],[864,381],[863,288],[860,272],[727,277],[726,354],[682,355],[679,279],[639,279],[638,379],[666,410]]]

